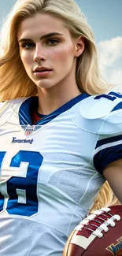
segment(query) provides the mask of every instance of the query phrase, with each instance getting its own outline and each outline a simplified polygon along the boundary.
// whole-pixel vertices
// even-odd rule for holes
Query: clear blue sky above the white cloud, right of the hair
[[[122,0],[77,0],[97,42],[122,36]]]

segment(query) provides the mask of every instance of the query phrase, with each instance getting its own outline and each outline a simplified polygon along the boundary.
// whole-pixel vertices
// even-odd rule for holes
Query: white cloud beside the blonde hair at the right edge
[[[115,91],[122,92],[122,37],[99,42],[98,51],[103,78],[116,86]]]

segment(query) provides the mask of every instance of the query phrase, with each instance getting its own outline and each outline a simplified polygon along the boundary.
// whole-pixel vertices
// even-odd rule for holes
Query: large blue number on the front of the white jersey
[[[5,151],[0,152],[0,174],[5,155]],[[11,176],[0,183],[0,211],[6,209],[9,214],[31,216],[38,212],[37,181],[43,156],[39,152],[20,150],[9,167],[20,169],[22,162],[26,163],[26,176]]]

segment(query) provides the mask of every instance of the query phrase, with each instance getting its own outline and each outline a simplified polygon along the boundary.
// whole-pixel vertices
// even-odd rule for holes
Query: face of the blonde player
[[[61,19],[36,13],[20,23],[17,39],[24,69],[38,87],[53,87],[74,72],[76,42]]]

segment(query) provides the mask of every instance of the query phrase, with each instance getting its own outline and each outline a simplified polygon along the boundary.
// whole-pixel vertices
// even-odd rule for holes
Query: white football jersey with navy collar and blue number
[[[62,255],[105,181],[103,169],[122,158],[121,100],[82,94],[35,125],[37,97],[1,103],[1,256]]]

